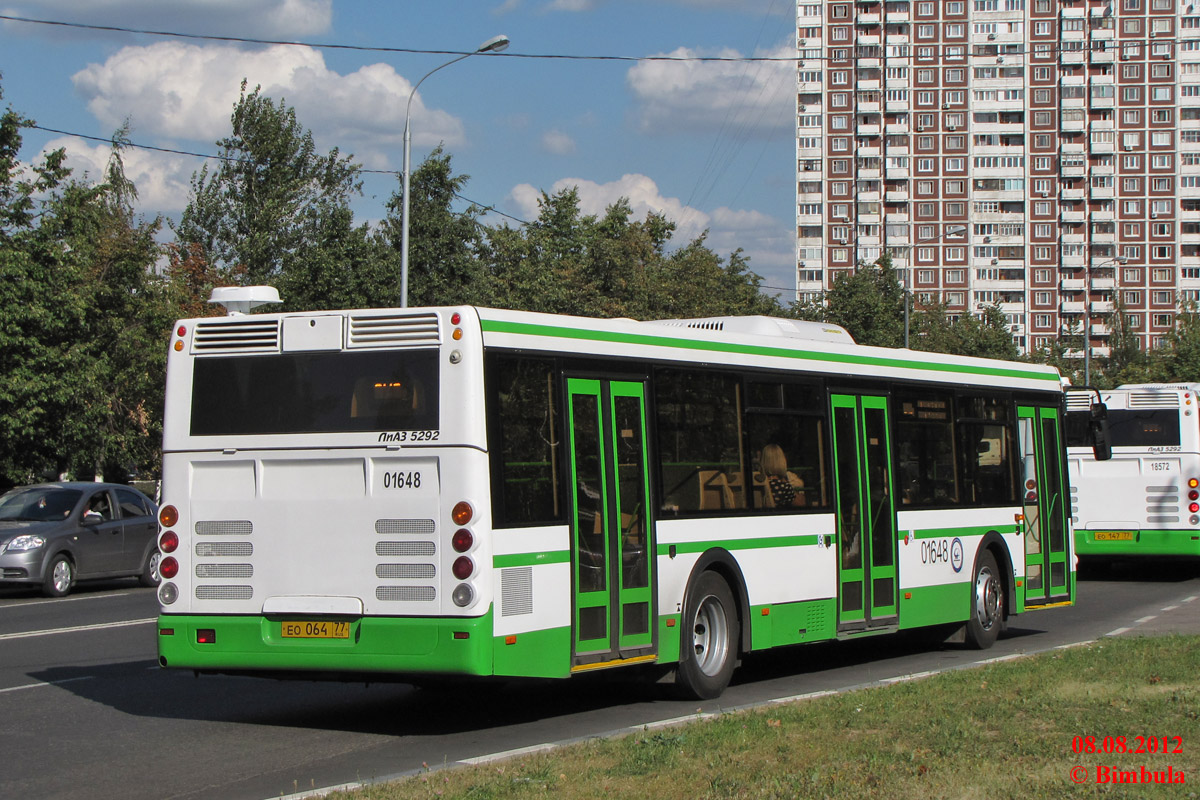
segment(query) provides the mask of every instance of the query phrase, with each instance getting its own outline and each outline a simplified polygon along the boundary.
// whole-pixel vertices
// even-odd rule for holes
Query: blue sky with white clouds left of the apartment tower
[[[794,55],[788,0],[0,0],[0,14],[188,35],[0,19],[4,106],[104,140],[127,121],[137,145],[208,155],[246,80],[294,107],[322,151],[396,173],[365,176],[360,222],[385,216],[398,192],[413,86],[506,35],[505,52],[421,83],[413,169],[440,144],[469,175],[466,198],[521,221],[544,192],[576,186],[596,215],[625,197],[638,218],[674,221],[676,246],[707,230],[718,254],[740,248],[764,287],[794,289],[794,67],[738,60]],[[102,175],[108,145],[73,136],[25,131],[22,160],[56,148],[77,175]],[[203,164],[131,149],[139,211],[178,218]]]

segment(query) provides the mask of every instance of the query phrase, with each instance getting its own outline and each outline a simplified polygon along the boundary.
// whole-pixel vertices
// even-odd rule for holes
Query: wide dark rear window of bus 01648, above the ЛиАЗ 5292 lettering
[[[194,361],[193,437],[437,429],[437,350]]]

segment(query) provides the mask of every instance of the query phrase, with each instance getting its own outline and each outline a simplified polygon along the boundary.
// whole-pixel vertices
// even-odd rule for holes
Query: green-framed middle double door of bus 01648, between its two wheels
[[[838,630],[894,625],[896,515],[886,397],[834,395]]]

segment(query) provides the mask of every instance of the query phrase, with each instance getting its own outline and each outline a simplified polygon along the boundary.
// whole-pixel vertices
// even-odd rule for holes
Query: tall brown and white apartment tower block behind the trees
[[[1115,311],[1160,344],[1200,299],[1194,2],[800,0],[798,295],[890,252],[1021,351],[1104,355]]]

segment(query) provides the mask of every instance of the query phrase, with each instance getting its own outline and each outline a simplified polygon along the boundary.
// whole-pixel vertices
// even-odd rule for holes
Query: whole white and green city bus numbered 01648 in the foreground
[[[1048,367],[784,319],[182,320],[160,662],[655,664],[714,697],[767,648],[922,626],[985,648],[1074,596],[1062,405]]]

